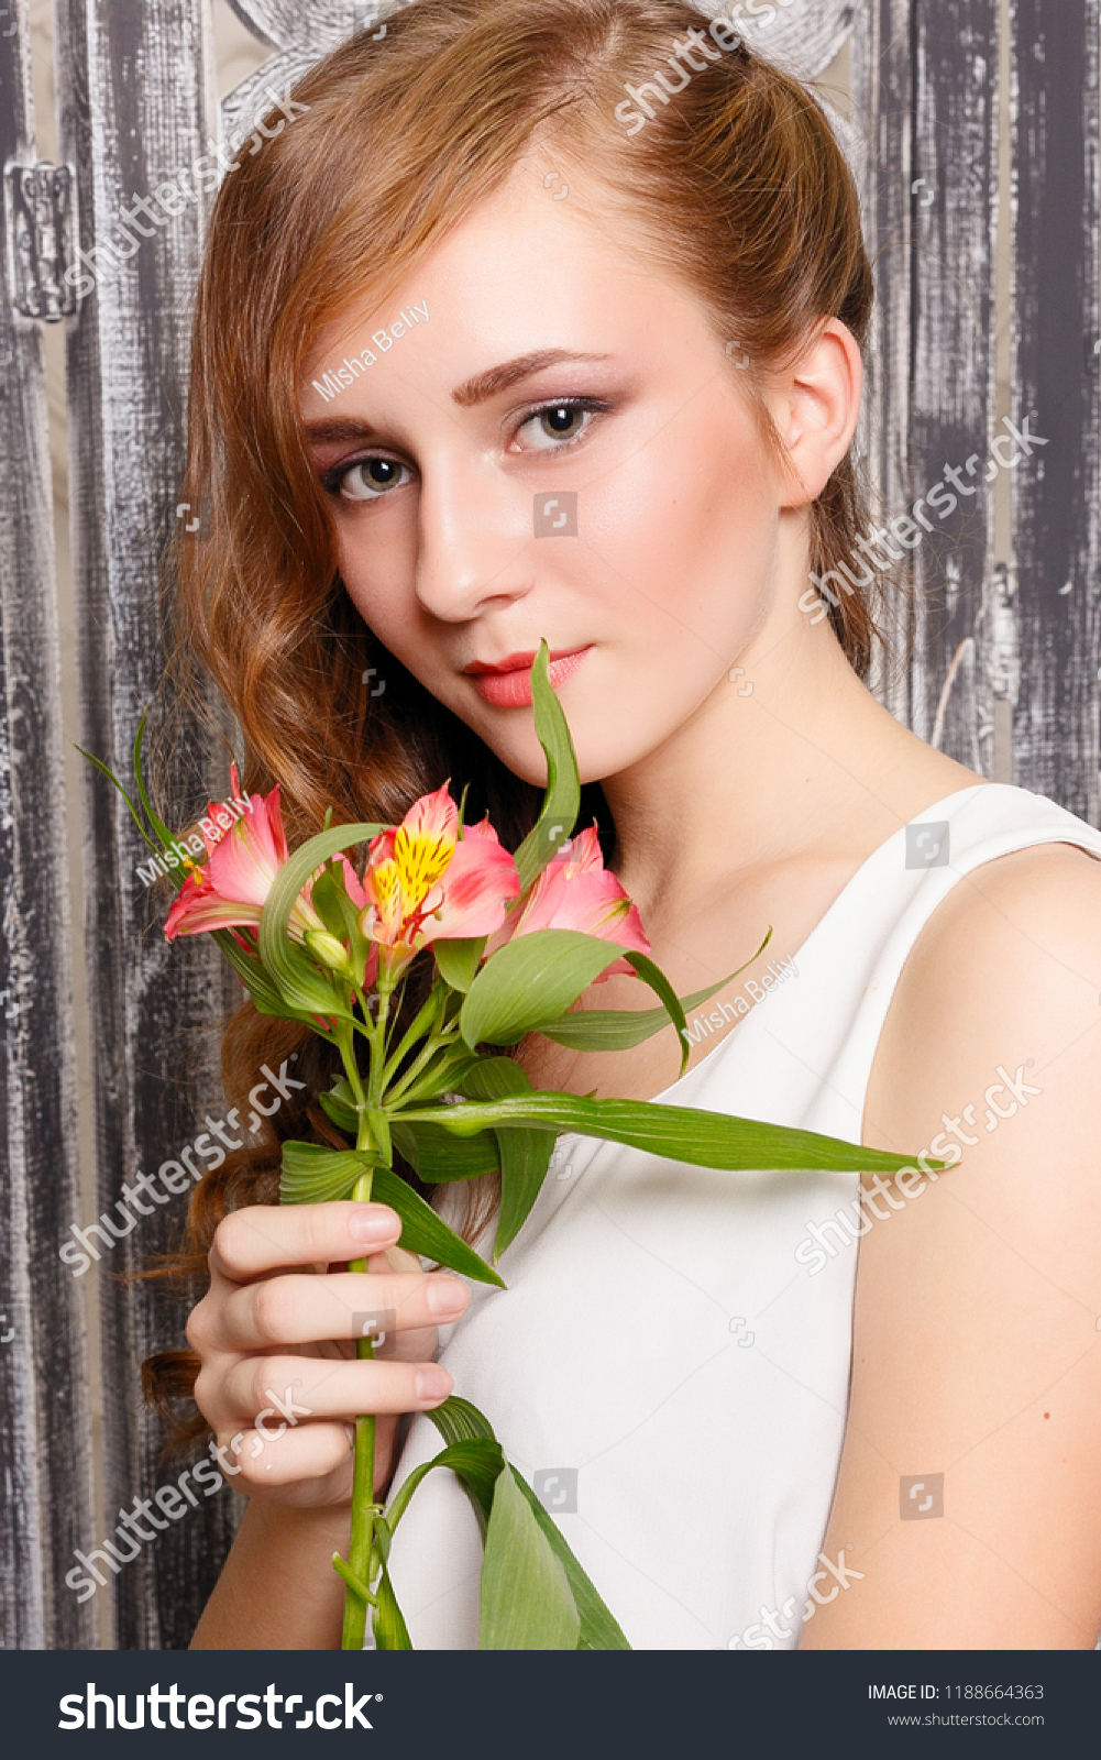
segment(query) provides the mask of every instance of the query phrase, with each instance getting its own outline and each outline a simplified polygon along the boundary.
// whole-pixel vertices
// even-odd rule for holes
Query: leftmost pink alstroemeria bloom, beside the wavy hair
[[[230,769],[230,780],[239,799],[236,766]],[[260,912],[290,850],[278,783],[271,794],[252,794],[248,801],[250,811],[241,813],[223,836],[211,838],[202,831],[208,861],[204,866],[195,862],[179,889],[164,926],[169,942],[178,935],[201,935],[204,929],[259,929]],[[211,801],[208,822],[216,824],[216,811],[218,806]],[[362,887],[348,859],[345,855],[339,859],[348,898],[359,910],[366,903]],[[301,942],[310,929],[325,933],[325,924],[310,901],[310,884],[294,903],[288,929],[295,942]]]

